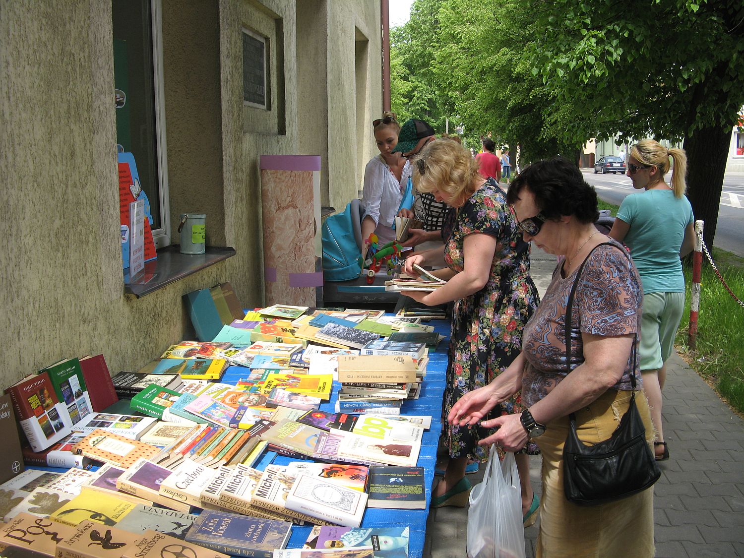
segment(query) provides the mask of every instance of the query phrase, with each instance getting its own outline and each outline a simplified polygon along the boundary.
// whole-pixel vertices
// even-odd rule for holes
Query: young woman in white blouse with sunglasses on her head
[[[394,112],[385,112],[382,118],[373,121],[372,126],[379,155],[365,167],[362,238],[366,240],[374,233],[379,246],[382,246],[395,240],[395,214],[411,178],[411,164],[400,153],[393,153],[400,133],[400,124]]]

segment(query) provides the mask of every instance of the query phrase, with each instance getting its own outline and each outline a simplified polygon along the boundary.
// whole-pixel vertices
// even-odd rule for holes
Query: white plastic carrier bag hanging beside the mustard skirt
[[[525,558],[522,488],[513,453],[499,466],[491,446],[483,482],[470,491],[468,558]]]

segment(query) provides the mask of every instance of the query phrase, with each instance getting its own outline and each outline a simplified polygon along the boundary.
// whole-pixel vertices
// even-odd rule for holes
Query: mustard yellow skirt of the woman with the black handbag
[[[630,391],[606,391],[589,407],[576,412],[577,432],[587,444],[606,440],[618,427],[630,403]],[[635,404],[653,441],[649,407],[643,391]],[[548,423],[536,438],[542,452],[542,501],[537,557],[653,557],[653,487],[622,500],[598,506],[578,506],[563,493],[563,444],[568,417]]]

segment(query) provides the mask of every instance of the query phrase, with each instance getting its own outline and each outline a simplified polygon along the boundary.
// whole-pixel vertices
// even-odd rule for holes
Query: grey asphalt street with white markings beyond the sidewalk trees
[[[624,174],[594,174],[582,169],[586,182],[597,189],[606,202],[620,205],[629,193],[635,192],[632,182]],[[667,176],[668,179],[668,176]],[[667,181],[668,182],[668,181]],[[744,174],[726,175],[716,225],[716,248],[744,257]]]

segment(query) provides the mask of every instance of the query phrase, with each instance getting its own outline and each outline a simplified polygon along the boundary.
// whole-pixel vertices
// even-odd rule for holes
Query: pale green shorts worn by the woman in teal
[[[658,370],[674,348],[684,292],[649,292],[641,315],[641,371]]]

